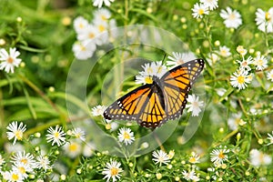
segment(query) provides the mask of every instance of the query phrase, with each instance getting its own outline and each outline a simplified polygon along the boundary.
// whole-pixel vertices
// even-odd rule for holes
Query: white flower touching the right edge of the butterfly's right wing
[[[198,116],[201,112],[202,106],[204,106],[204,101],[199,101],[199,96],[188,95],[187,97],[188,104],[186,105],[187,112],[192,112],[191,116]]]

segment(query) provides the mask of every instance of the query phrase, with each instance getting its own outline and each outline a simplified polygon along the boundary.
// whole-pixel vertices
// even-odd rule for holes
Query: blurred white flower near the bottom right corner
[[[272,158],[267,154],[264,154],[258,149],[251,149],[249,152],[250,164],[254,167],[260,167],[262,165],[270,165]]]

